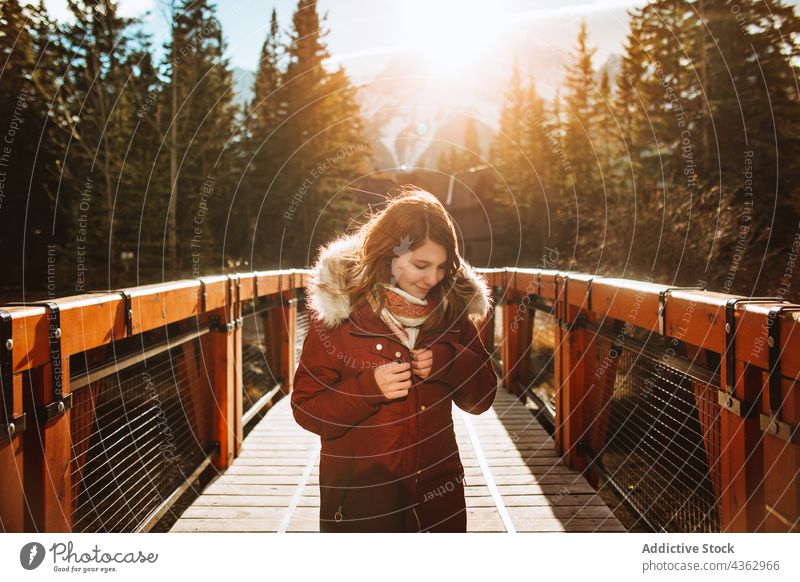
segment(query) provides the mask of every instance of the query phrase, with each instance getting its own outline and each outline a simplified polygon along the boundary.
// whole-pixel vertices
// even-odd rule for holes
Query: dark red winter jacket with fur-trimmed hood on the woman
[[[359,244],[356,235],[334,241],[314,268],[313,314],[291,395],[294,418],[321,438],[320,530],[463,531],[464,468],[451,402],[480,414],[494,400],[491,356],[468,317],[486,315],[488,289],[464,263],[458,276],[475,290],[469,312],[420,334],[415,347],[432,350],[431,373],[412,376],[408,396],[390,400],[375,367],[410,362],[411,352],[366,301],[351,308],[336,292],[345,283],[338,261],[350,244]]]

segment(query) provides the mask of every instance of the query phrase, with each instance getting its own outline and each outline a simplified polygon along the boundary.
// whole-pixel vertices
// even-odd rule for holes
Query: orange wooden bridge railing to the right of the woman
[[[601,476],[614,480],[635,459],[638,477],[628,484],[635,491],[649,478],[642,473],[656,468],[674,470],[662,487],[675,485],[684,467],[664,466],[665,457],[699,459],[713,499],[696,521],[713,521],[714,513],[712,530],[798,530],[800,305],[557,271],[494,277],[504,292],[504,380],[517,392],[530,379],[534,314],[555,317],[554,437],[571,467],[587,470],[596,483]],[[613,432],[615,407],[627,416],[611,419]],[[598,460],[631,427],[629,434],[651,446],[626,443],[631,458],[615,462],[609,475]],[[682,448],[668,452],[678,435],[691,432],[698,451],[687,450],[691,439],[680,436]],[[660,503],[657,497],[647,503]],[[673,500],[666,514],[689,504]],[[651,525],[681,530],[669,521]]]

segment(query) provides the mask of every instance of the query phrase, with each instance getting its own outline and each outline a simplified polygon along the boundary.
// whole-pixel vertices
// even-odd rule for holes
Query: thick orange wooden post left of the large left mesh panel
[[[45,318],[45,323],[47,318]],[[29,511],[26,531],[70,532],[72,530],[72,478],[70,464],[69,358],[61,359],[63,410],[53,395],[53,364],[37,366],[23,375],[25,409],[31,422],[24,433],[25,497]],[[49,421],[44,412],[55,405]],[[38,417],[38,420],[37,420]]]

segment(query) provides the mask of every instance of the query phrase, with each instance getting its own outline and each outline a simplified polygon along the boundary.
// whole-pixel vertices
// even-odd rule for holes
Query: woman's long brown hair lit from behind
[[[398,256],[395,247],[401,241],[405,250],[413,251],[429,239],[444,247],[447,261],[444,277],[428,292],[427,299],[435,308],[420,331],[442,327],[467,313],[474,289],[457,276],[461,256],[456,230],[444,206],[433,194],[414,186],[404,186],[397,197],[361,226],[360,235],[363,244],[351,257],[351,268],[359,276],[351,279],[355,284],[347,290],[352,305],[365,300],[376,283],[390,281],[391,262]],[[378,302],[383,306],[382,286],[378,286],[377,294]]]

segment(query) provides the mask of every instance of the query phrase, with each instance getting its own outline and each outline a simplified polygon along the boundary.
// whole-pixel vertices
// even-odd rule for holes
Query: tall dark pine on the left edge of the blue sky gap
[[[167,81],[161,108],[170,177],[165,249],[171,276],[219,272],[235,191],[235,106],[225,43],[208,0],[174,7],[165,46]]]

